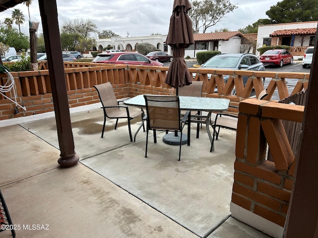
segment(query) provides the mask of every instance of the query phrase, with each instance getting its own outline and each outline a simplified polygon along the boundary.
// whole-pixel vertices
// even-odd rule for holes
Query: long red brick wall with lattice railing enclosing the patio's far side
[[[47,68],[45,62],[39,64]],[[96,84],[110,82],[117,98],[133,97],[138,94],[175,94],[175,89],[164,83],[168,67],[141,66],[141,65],[105,65],[87,62],[65,62],[65,79],[69,95],[70,108],[99,102]],[[203,97],[222,97],[231,100],[231,104],[238,106],[239,102],[248,98],[252,89],[256,96],[264,89],[262,77],[270,77],[272,81],[267,87],[267,100],[272,97],[278,88],[282,98],[288,97],[285,77],[298,78],[299,81],[292,94],[308,87],[309,73],[276,73],[245,70],[213,70],[190,68],[195,73],[194,80],[203,81]],[[212,74],[210,80],[208,74]],[[223,74],[230,74],[227,84]],[[247,75],[246,86],[242,84],[242,76]],[[15,104],[0,95],[0,120],[24,117],[54,111],[49,71],[12,72],[15,81],[17,102],[26,107],[27,111],[19,109],[14,114]],[[0,74],[2,83],[7,80],[6,74]],[[2,84],[2,85],[3,85]],[[218,87],[218,93],[214,88]],[[236,87],[237,95],[231,95]],[[11,92],[5,94],[14,98]],[[237,113],[237,111],[234,111]]]

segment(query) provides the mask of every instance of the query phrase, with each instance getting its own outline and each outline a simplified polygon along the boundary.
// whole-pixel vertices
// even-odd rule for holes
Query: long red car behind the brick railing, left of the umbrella
[[[93,63],[117,63],[117,64],[133,64],[146,66],[163,66],[162,63],[150,60],[146,56],[137,52],[114,52],[114,53],[100,53]]]

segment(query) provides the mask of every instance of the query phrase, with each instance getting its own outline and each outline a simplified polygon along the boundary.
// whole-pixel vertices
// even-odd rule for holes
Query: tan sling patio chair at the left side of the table
[[[116,119],[115,129],[117,129],[118,119],[127,119],[128,121],[128,130],[130,141],[133,141],[131,134],[130,120],[143,114],[143,111],[130,111],[128,106],[119,105],[119,101],[116,99],[113,86],[107,82],[103,84],[94,85],[94,88],[98,92],[100,102],[102,104],[102,109],[104,111],[104,124],[101,132],[101,137],[103,138],[106,118]],[[145,127],[144,127],[145,130]]]

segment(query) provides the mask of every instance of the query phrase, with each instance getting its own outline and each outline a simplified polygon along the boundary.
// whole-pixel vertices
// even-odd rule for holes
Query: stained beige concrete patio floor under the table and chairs
[[[117,130],[114,120],[106,123],[101,138],[99,108],[71,120],[80,161],[68,169],[57,163],[55,118],[0,121],[0,189],[21,226],[16,237],[268,238],[231,217],[236,131],[223,129],[210,153],[205,127],[197,139],[192,125],[191,145],[182,145],[178,161],[179,147],[164,144],[163,133],[157,144],[150,137],[145,158],[146,132],[130,142],[124,120]],[[133,120],[133,134],[140,121]]]

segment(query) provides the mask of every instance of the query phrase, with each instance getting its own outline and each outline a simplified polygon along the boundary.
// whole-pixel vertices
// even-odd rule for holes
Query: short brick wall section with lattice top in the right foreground
[[[285,225],[295,169],[281,120],[301,122],[303,113],[304,106],[256,99],[239,104],[232,203],[280,227]],[[274,162],[266,160],[267,145]]]

